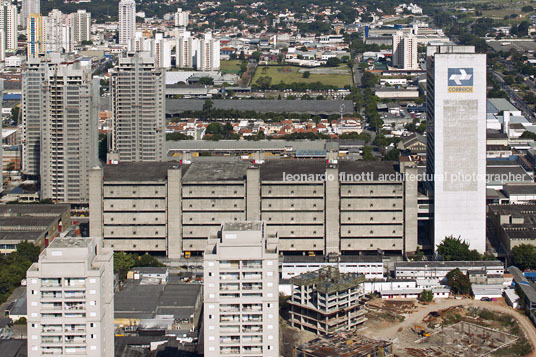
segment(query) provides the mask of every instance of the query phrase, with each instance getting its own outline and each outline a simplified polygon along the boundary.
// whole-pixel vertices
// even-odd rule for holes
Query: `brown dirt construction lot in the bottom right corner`
[[[536,356],[528,353],[530,344],[534,350],[536,329],[526,316],[508,307],[503,300],[436,299],[424,305],[415,300],[376,299],[368,304],[368,310],[362,333],[392,340],[400,356],[480,356],[488,352],[494,356]],[[474,324],[477,330],[478,326],[484,328],[467,332],[460,327],[464,324]],[[431,336],[419,336],[416,331],[419,327]],[[473,346],[477,340],[481,343]],[[501,346],[507,347],[494,352]]]

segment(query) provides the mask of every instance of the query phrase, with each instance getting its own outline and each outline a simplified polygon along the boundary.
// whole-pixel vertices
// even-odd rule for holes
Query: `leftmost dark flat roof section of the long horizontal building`
[[[121,162],[104,166],[104,181],[165,181],[177,162]]]

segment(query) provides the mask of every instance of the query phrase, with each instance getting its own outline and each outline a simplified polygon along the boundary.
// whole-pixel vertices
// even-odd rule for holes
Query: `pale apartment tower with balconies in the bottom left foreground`
[[[114,355],[113,254],[56,238],[26,273],[28,356]]]

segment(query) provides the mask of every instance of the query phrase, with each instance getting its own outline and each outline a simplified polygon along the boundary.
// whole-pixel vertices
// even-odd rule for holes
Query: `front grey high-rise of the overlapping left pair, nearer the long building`
[[[41,198],[88,202],[88,170],[99,162],[98,79],[89,66],[62,63],[48,71],[41,91]]]

